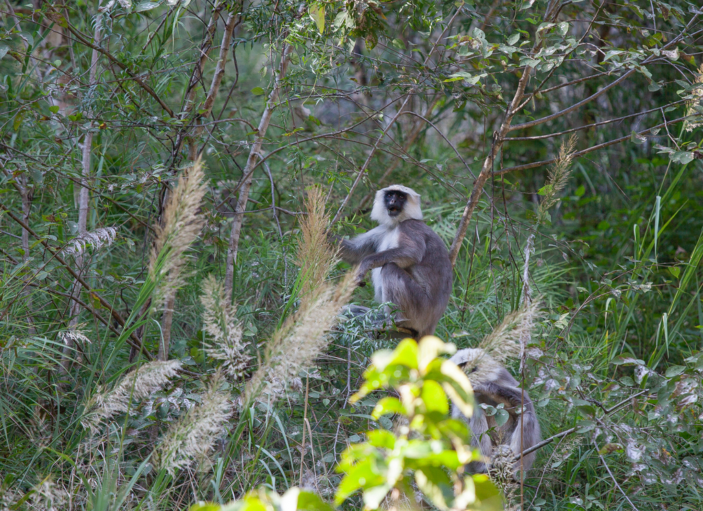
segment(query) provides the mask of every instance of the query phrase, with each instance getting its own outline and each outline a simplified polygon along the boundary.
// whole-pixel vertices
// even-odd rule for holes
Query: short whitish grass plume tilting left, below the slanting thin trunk
[[[200,303],[205,309],[202,312],[203,329],[212,337],[212,344],[205,353],[222,361],[225,375],[238,380],[252,358],[246,351],[249,343],[242,342],[242,327],[235,316],[235,308],[228,303],[224,286],[212,274],[202,282]]]

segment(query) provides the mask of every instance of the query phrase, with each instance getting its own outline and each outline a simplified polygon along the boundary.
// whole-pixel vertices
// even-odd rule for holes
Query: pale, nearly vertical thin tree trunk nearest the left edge
[[[100,44],[101,39],[101,22],[102,15],[98,13],[95,18],[95,32],[93,33],[93,43]],[[91,63],[90,70],[88,73],[88,93],[91,94],[97,83],[96,75],[98,69],[98,51],[93,49],[91,53]],[[88,98],[89,99],[89,98]],[[88,118],[93,118],[92,110],[88,112]],[[83,138],[83,157],[82,157],[82,178],[81,178],[81,188],[78,194],[78,235],[84,235],[87,231],[88,224],[88,207],[90,202],[90,190],[88,188],[88,179],[91,171],[91,151],[93,148],[93,131],[92,122],[89,124],[88,130],[86,131],[85,137]],[[81,254],[75,257],[76,271],[79,275],[82,273],[83,269],[83,256]],[[80,283],[76,280],[71,288],[72,295],[74,293],[80,292]],[[70,301],[70,320],[68,323],[69,332],[75,332],[78,322],[80,319],[81,306],[75,300]],[[61,355],[60,373],[67,374],[68,369],[71,366],[72,357],[71,351],[74,347],[74,337],[72,335],[67,335],[65,337],[65,344],[63,346],[63,352]]]

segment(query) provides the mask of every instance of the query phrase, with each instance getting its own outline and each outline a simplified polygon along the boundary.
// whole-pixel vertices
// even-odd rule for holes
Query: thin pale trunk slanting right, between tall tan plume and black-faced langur
[[[234,220],[232,221],[232,231],[229,237],[229,245],[227,248],[227,260],[224,273],[224,292],[225,297],[228,300],[227,303],[231,302],[232,299],[232,283],[234,280],[234,264],[237,260],[237,251],[239,249],[239,236],[242,232],[242,222],[244,221],[244,212],[247,209],[247,201],[249,200],[249,190],[252,188],[252,177],[254,176],[254,166],[256,166],[261,156],[261,148],[264,143],[264,138],[266,137],[266,130],[269,129],[269,122],[271,122],[271,116],[273,115],[273,110],[276,109],[276,100],[278,98],[278,92],[280,91],[280,84],[283,82],[283,77],[285,77],[285,72],[288,70],[288,63],[290,63],[290,53],[292,53],[293,47],[289,44],[285,44],[283,47],[283,53],[280,56],[280,65],[278,67],[278,74],[273,82],[273,91],[269,96],[269,101],[266,102],[266,108],[262,114],[261,122],[259,122],[259,127],[257,128],[257,137],[254,139],[254,144],[249,152],[249,157],[247,158],[247,164],[244,167],[243,172],[243,183],[239,190],[239,196],[237,199],[237,207],[234,215]]]

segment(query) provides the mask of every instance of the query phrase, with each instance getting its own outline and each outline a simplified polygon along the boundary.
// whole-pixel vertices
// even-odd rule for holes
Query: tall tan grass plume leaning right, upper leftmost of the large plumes
[[[162,225],[154,226],[156,239],[149,259],[149,275],[155,283],[160,283],[162,295],[169,295],[180,287],[183,267],[186,266],[186,250],[198,238],[205,224],[205,219],[198,214],[200,202],[207,191],[204,176],[198,160],[179,177],[164,207]]]

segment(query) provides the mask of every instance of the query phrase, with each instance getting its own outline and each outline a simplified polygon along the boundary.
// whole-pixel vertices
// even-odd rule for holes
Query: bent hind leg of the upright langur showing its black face
[[[430,297],[425,290],[415,282],[410,273],[395,263],[384,264],[381,268],[383,281],[383,302],[393,302],[399,306],[396,313],[396,323],[404,328],[425,335],[428,325],[423,318],[430,309]]]

